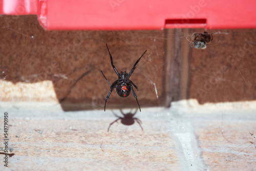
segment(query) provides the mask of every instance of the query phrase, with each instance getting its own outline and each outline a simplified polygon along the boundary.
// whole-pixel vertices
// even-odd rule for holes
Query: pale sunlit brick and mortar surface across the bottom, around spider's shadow
[[[187,103],[142,108],[135,117],[144,131],[119,120],[109,132],[119,110],[63,112],[53,103],[1,103],[14,151],[8,169],[3,163],[0,169],[255,170],[255,110],[218,109],[222,104],[195,110]]]

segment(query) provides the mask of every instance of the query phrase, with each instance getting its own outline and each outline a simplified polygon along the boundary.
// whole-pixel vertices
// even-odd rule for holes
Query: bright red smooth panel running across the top
[[[46,30],[256,28],[255,0],[0,0],[0,13],[37,14]]]

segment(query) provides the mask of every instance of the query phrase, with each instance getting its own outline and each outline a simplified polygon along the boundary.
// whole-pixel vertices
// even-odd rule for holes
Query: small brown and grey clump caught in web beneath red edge
[[[205,49],[206,45],[211,42],[212,38],[212,34],[207,32],[193,33],[191,36],[186,37],[190,46],[192,47],[193,45],[196,49]]]

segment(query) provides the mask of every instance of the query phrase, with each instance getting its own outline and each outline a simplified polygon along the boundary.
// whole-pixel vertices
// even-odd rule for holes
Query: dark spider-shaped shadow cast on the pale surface
[[[127,113],[127,114],[124,114],[124,113],[122,112],[122,110],[120,110],[120,111],[121,111],[123,117],[117,116],[115,113],[113,113],[118,119],[116,119],[114,122],[112,122],[112,123],[110,124],[110,126],[111,126],[113,123],[117,122],[119,119],[121,119],[121,123],[124,124],[124,125],[132,125],[132,124],[134,124],[134,122],[135,122],[135,120],[136,120],[136,122],[139,123],[139,125],[140,125],[140,127],[141,127],[141,130],[143,131],[143,128],[142,128],[142,126],[141,126],[141,120],[139,120],[138,118],[134,118],[134,115],[137,113],[138,109],[135,111],[135,113],[131,113],[131,112],[130,112],[130,113]],[[110,126],[109,126],[109,129],[108,129],[108,132],[109,132],[109,130],[110,130]]]

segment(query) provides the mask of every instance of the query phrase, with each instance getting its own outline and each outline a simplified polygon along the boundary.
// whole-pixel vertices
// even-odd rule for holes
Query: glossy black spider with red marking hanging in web
[[[108,48],[108,51],[109,51],[109,54],[110,54],[110,50],[109,50],[109,47],[108,47],[107,44],[106,44],[106,48]],[[146,53],[146,51],[144,53]],[[144,55],[144,53],[141,55],[141,57]],[[113,64],[112,55],[110,54],[111,65],[112,65],[113,69],[115,70],[115,72],[116,72],[116,74],[118,76],[118,80],[113,82],[112,85],[111,85],[109,80],[106,79],[106,77],[104,76],[103,72],[101,71],[101,73],[104,76],[104,78],[106,79],[106,81],[108,81],[108,83],[110,84],[110,89],[111,89],[109,94],[108,94],[108,96],[106,96],[106,100],[108,100],[108,98],[110,97],[111,92],[114,89],[116,89],[116,93],[120,97],[128,97],[130,95],[131,89],[132,89],[133,95],[136,98],[138,106],[139,106],[139,109],[140,109],[140,105],[139,105],[137,96],[136,96],[136,94],[135,94],[135,92],[133,90],[133,86],[137,89],[137,91],[139,91],[139,90],[138,90],[137,86],[133,83],[133,81],[131,81],[129,79],[130,76],[133,74],[134,70],[136,69],[136,65],[140,61],[140,58],[136,61],[136,63],[134,64],[134,66],[133,66],[132,70],[129,72],[129,74],[126,73],[126,71],[124,71],[124,72],[121,71],[121,73],[118,73],[117,70],[116,70],[116,67]],[[106,110],[106,100],[105,100],[104,111]],[[141,110],[140,110],[140,112],[141,112]]]

